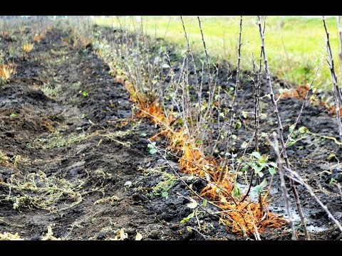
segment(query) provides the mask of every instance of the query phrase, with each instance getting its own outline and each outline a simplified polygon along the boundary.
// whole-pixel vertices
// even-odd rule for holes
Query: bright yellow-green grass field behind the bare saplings
[[[228,60],[234,67],[237,63],[237,42],[239,37],[239,16],[200,16],[204,40],[213,60]],[[135,16],[94,18],[101,26],[140,28]],[[204,48],[196,16],[185,16],[185,28],[190,34],[191,48],[195,53],[204,54]],[[147,35],[165,38],[177,43],[180,50],[186,49],[186,40],[179,16],[142,16],[142,27]],[[336,72],[341,78],[338,58],[338,33],[336,18],[326,18],[331,34],[331,47]],[[268,16],[266,18],[265,45],[272,75],[289,82],[302,85],[311,82],[319,63],[324,65],[318,72],[316,87],[331,88],[331,77],[326,65],[326,33],[321,17]],[[251,69],[251,55],[259,60],[260,36],[256,16],[244,16],[242,27],[242,68]],[[341,79],[340,79],[341,80]],[[339,81],[338,81],[339,82]]]

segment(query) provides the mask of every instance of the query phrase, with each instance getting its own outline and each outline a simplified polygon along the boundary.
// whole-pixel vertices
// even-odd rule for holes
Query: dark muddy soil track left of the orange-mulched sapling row
[[[151,157],[147,140],[140,137],[142,132],[152,137],[159,128],[147,120],[130,119],[128,93],[108,75],[108,67],[91,49],[76,50],[63,43],[63,36],[61,31],[48,33],[41,43],[36,43],[27,60],[17,61],[15,78],[1,87],[1,151],[9,157],[26,157],[30,163],[1,166],[0,175],[6,182],[12,174],[25,176],[43,171],[47,176],[68,181],[81,179],[86,181],[85,190],[99,190],[83,195],[77,206],[56,213],[34,206],[14,210],[14,202],[3,200],[1,233],[18,232],[21,238],[34,240],[46,233],[48,225],[54,225],[53,235],[66,239],[114,238],[115,230],[120,228],[125,228],[128,239],[134,239],[136,232],[144,239],[203,239],[180,225],[180,220],[190,213],[185,198],[173,192],[168,201],[160,197],[150,200],[144,191],[125,186],[127,181],[146,178],[142,169],[165,169],[165,162]],[[60,94],[46,97],[41,91],[46,84],[59,87]],[[87,91],[88,97],[83,97],[80,90]],[[15,118],[10,117],[12,113]],[[69,146],[43,149],[50,137],[108,135],[118,131],[123,135],[119,133],[112,139],[90,135]],[[150,174],[149,179],[152,187],[162,176]],[[180,181],[173,186],[172,190],[189,195]],[[4,186],[0,191],[9,194],[9,188]],[[119,199],[94,205],[98,199],[110,196]],[[63,200],[56,207],[64,208]],[[225,228],[216,223],[211,228],[215,230],[213,234],[220,230],[225,236]]]

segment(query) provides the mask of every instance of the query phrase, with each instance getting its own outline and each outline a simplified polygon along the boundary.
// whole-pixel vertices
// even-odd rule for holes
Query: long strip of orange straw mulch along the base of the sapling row
[[[169,139],[169,148],[177,153],[182,154],[180,159],[180,171],[197,176],[210,176],[212,183],[209,183],[202,191],[200,196],[211,198],[213,203],[222,210],[221,222],[231,228],[234,233],[247,233],[251,235],[254,233],[254,227],[258,228],[258,232],[264,231],[264,228],[276,227],[279,228],[286,224],[284,218],[279,217],[274,213],[265,212],[261,210],[259,203],[249,201],[247,197],[242,203],[232,200],[232,190],[234,188],[234,175],[227,172],[226,177],[218,184],[220,167],[214,160],[208,160],[202,151],[191,142],[185,135],[184,130],[181,128],[178,131],[170,129],[172,119],[167,119],[162,111],[162,106],[158,102],[147,104],[147,101],[140,92],[135,91],[133,85],[124,80],[120,76],[120,82],[123,82],[125,88],[130,94],[130,100],[135,102],[140,112],[138,117],[146,117],[152,122],[157,124],[164,124],[166,129],[155,134],[150,139],[156,139],[158,136],[163,135]],[[172,114],[170,114],[172,117]],[[192,164],[194,163],[194,164]],[[204,171],[205,170],[205,171]],[[228,167],[227,167],[228,170]],[[217,185],[215,185],[217,184]],[[219,189],[219,187],[221,189]],[[264,209],[268,206],[266,196],[263,198]]]

